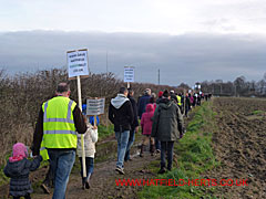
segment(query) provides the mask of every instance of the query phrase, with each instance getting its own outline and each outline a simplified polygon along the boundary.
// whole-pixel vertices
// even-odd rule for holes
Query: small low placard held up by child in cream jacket
[[[88,98],[86,100],[86,115],[102,115],[104,114],[105,98]]]

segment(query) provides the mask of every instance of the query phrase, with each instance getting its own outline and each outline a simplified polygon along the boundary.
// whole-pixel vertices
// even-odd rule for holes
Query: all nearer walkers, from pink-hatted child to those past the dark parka
[[[76,154],[81,163],[82,188],[90,188],[98,127],[91,124],[94,122],[90,123],[91,119],[86,118],[76,103],[70,100],[70,85],[60,83],[55,96],[42,104],[31,146],[33,160],[28,159],[28,149],[22,143],[13,145],[12,156],[4,167],[6,176],[11,178],[10,195],[13,198],[31,198],[30,195],[33,190],[29,172],[35,170],[44,158],[50,161],[50,169],[44,181],[52,181],[49,184],[54,187],[52,198],[64,199]],[[117,140],[115,170],[123,175],[124,161],[132,160],[130,150],[139,126],[141,126],[143,135],[140,156],[143,157],[144,148],[150,143],[152,156],[154,153],[161,153],[158,174],[171,170],[174,142],[185,134],[182,113],[187,115],[192,104],[190,94],[176,95],[174,92],[165,90],[160,92],[156,98],[156,94],[152,93],[150,88],[146,88],[144,95],[136,102],[133,90],[121,87],[109,106],[109,119],[114,125]],[[85,177],[83,175],[81,135],[84,135]],[[45,189],[45,185],[43,186]],[[49,190],[47,191],[49,192]]]

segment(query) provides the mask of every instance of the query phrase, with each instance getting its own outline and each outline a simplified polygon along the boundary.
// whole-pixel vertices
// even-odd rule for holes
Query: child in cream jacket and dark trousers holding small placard
[[[83,177],[83,167],[82,167],[82,148],[81,148],[81,135],[78,134],[78,148],[76,153],[81,163],[81,178],[82,178],[82,189],[89,189],[91,187],[90,179],[93,172],[93,161],[95,150],[95,143],[98,142],[98,127],[88,124],[86,133],[84,134],[84,149],[85,149],[85,167],[86,167],[86,177]]]

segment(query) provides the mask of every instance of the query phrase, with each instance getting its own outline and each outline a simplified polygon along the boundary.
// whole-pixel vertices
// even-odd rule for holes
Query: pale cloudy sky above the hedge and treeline
[[[260,80],[266,72],[264,0],[0,0],[0,69],[65,66],[89,49],[94,73],[134,65],[137,82]]]

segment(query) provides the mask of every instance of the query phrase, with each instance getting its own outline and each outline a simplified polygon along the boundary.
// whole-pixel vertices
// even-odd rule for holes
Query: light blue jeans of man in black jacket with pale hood
[[[130,137],[130,130],[124,130],[124,132],[115,132],[115,138],[117,140],[117,161],[116,161],[116,167],[123,168],[124,167],[124,156],[125,156],[125,150],[127,147],[129,143],[129,137]]]

